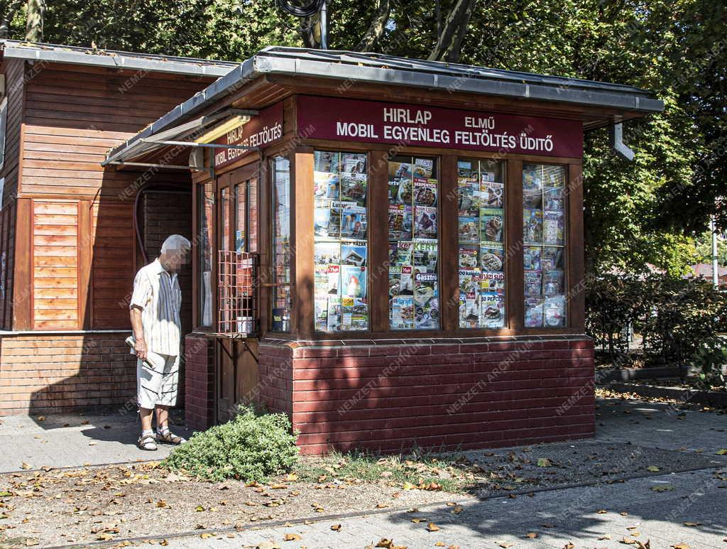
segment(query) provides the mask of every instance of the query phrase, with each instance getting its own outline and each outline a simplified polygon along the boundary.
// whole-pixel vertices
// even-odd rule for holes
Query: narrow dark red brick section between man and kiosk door
[[[185,422],[204,430],[214,424],[214,340],[185,337]]]

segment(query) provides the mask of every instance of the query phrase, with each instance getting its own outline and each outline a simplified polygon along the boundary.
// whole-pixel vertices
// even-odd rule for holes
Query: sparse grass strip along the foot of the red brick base
[[[361,483],[385,482],[410,489],[441,489],[465,492],[472,484],[465,461],[457,454],[437,454],[415,449],[411,454],[382,455],[371,452],[332,452],[305,457],[294,468],[301,481],[334,479]]]

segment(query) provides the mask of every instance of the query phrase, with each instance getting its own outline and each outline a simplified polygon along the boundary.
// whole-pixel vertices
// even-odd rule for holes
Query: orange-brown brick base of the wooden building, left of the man
[[[124,334],[0,338],[0,415],[119,406],[136,412],[136,360]]]

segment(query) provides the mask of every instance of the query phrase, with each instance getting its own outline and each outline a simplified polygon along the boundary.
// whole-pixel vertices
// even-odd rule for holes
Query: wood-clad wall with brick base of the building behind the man
[[[148,182],[189,191],[190,176],[101,162],[213,79],[15,60],[0,70],[8,84],[21,83],[11,97],[3,169],[6,200],[16,200],[0,214],[0,254],[8,256],[7,288],[15,281],[23,289],[13,299],[0,292],[1,327],[15,331],[0,337],[0,414],[126,406],[134,367],[123,341],[143,261],[134,199]],[[171,232],[189,223],[190,236],[190,197],[170,196],[149,194],[139,207],[153,224],[142,236],[154,255],[165,220]],[[189,318],[190,294],[183,308]]]

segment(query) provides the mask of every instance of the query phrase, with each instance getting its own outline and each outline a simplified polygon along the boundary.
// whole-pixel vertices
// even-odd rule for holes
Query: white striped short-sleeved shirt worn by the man
[[[141,325],[148,350],[177,356],[180,353],[182,290],[177,273],[169,273],[158,258],[142,267],[134,278],[129,308],[142,309]]]

